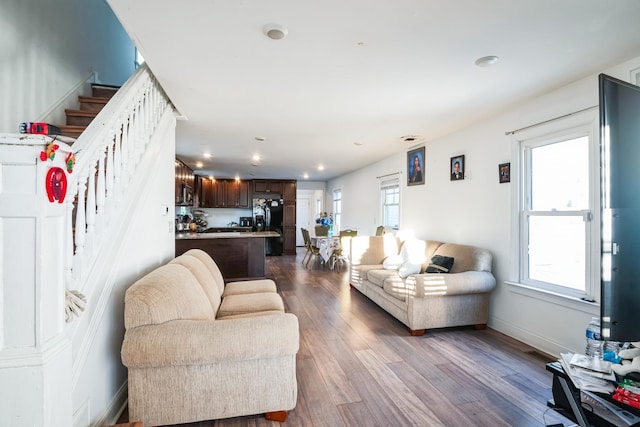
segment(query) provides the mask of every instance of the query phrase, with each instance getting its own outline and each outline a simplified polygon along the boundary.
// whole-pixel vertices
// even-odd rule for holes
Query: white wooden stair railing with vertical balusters
[[[66,198],[67,289],[82,287],[121,196],[170,105],[143,64],[72,145],[76,166]]]

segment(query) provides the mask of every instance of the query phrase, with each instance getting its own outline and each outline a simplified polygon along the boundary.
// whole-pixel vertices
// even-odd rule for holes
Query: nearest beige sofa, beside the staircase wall
[[[273,281],[225,286],[209,255],[193,249],[133,284],[124,317],[130,420],[284,421],[296,406],[298,319]]]

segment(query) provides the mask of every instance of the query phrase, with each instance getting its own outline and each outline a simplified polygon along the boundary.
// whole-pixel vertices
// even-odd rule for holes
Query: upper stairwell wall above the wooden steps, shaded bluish
[[[58,104],[90,69],[102,83],[123,84],[135,51],[104,0],[3,0],[0,57],[0,133],[15,133],[18,123],[39,120]]]

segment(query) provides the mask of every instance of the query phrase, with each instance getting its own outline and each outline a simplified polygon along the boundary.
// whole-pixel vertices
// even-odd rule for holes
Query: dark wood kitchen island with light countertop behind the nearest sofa
[[[176,256],[202,249],[214,259],[225,281],[265,277],[266,239],[280,237],[275,231],[224,231],[176,233]]]

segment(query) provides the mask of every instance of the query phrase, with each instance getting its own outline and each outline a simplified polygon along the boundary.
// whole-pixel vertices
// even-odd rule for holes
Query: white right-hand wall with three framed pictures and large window
[[[630,80],[640,58],[603,72]],[[406,152],[338,177],[327,183],[327,194],[343,191],[343,221],[360,234],[373,234],[380,223],[377,176],[402,171],[401,228],[416,236],[477,245],[494,256],[498,286],[492,294],[489,326],[558,355],[581,352],[584,330],[598,307],[525,292],[505,284],[509,279],[511,195],[515,179],[498,183],[498,164],[512,162],[512,137],[505,132],[553,119],[598,104],[597,75],[592,75],[508,111],[425,144],[425,185],[406,186]],[[410,147],[407,147],[407,150]],[[451,157],[465,155],[466,178],[450,181]],[[327,201],[329,196],[327,196]]]

